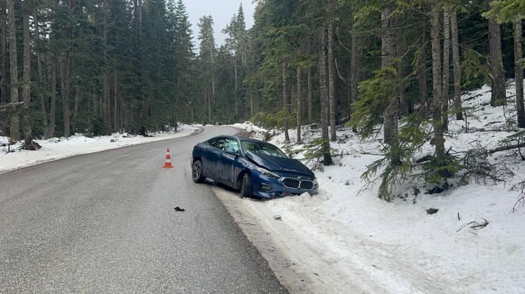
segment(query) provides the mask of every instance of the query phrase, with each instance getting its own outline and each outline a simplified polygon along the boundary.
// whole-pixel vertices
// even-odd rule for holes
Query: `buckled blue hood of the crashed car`
[[[246,157],[268,170],[273,170],[275,172],[293,172],[300,175],[314,177],[314,172],[304,166],[304,164],[297,159],[288,159],[254,152],[246,152]]]

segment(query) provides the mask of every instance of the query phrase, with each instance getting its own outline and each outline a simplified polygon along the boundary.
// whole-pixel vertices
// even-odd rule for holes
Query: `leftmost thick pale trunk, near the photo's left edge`
[[[15,24],[15,2],[7,0],[8,8],[8,27],[9,27],[9,61],[11,74],[11,103],[18,102],[18,58],[16,50],[16,24]],[[20,140],[20,122],[18,113],[13,105],[10,122],[10,139],[12,141]]]

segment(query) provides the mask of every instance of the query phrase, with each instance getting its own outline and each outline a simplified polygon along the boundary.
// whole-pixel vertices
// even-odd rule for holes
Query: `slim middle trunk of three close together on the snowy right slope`
[[[450,7],[443,9],[443,131],[449,130],[449,72],[450,72]]]

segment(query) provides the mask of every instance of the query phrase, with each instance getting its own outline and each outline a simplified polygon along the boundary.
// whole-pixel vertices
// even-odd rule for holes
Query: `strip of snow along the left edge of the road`
[[[181,124],[178,131],[165,131],[159,133],[149,133],[151,137],[132,135],[128,133],[113,133],[94,138],[85,135],[73,135],[69,138],[51,138],[48,140],[35,140],[42,146],[36,151],[20,149],[21,142],[11,145],[10,149],[15,152],[7,152],[8,138],[0,136],[0,173],[8,172],[18,168],[34,166],[38,163],[63,159],[79,154],[99,152],[128,145],[137,145],[146,142],[155,142],[179,138],[199,131],[197,126]]]

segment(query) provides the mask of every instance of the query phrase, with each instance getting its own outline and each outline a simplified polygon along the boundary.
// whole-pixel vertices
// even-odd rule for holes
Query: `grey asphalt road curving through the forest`
[[[286,293],[211,186],[191,180],[193,146],[236,132],[0,175],[0,293]],[[161,168],[166,147],[175,168]]]

